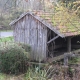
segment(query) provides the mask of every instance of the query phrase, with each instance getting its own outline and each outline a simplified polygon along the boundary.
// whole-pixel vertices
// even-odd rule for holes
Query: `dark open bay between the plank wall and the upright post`
[[[47,42],[49,42],[51,39],[55,38],[57,34],[47,29]],[[51,41],[50,43],[47,43],[47,56],[48,57],[55,57],[58,55],[63,54],[64,52],[67,52],[67,39],[57,37],[55,40]]]

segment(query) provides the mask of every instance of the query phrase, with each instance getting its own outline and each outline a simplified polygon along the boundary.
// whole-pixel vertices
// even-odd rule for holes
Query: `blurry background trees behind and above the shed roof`
[[[26,11],[54,12],[55,6],[64,6],[80,17],[79,0],[0,0],[0,25],[10,28],[9,23]]]

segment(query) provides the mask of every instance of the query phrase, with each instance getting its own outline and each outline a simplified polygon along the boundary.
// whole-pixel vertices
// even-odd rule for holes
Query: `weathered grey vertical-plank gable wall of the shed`
[[[31,59],[46,59],[47,27],[31,15],[26,15],[14,25],[14,38],[31,46]]]

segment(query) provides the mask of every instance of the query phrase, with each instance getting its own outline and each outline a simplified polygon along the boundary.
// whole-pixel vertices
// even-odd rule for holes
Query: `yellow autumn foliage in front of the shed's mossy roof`
[[[75,13],[69,12],[66,8],[60,7],[56,8],[57,12],[54,15],[55,21],[60,23],[59,25],[66,25],[68,23],[74,23],[74,20],[77,21],[78,17]]]

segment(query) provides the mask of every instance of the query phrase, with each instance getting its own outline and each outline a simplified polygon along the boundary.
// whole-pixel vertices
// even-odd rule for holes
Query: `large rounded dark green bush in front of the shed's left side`
[[[28,68],[28,53],[19,45],[7,45],[0,48],[0,70],[4,73],[19,74]]]

